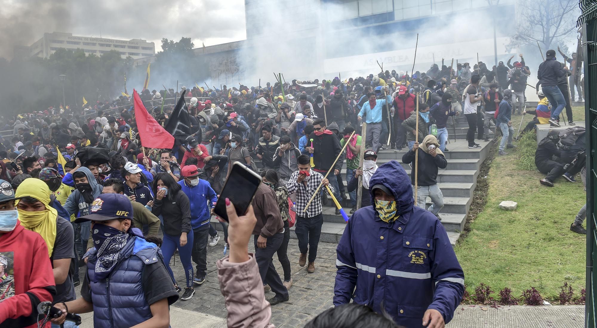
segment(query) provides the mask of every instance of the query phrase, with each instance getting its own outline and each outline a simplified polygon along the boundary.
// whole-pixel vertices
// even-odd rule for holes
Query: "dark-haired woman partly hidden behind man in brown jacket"
[[[275,170],[267,170],[263,174],[263,183],[269,185],[276,193],[276,200],[278,200],[278,207],[280,215],[284,221],[284,239],[282,245],[278,249],[278,261],[282,264],[284,270],[284,287],[290,289],[293,286],[293,279],[290,276],[290,260],[288,259],[288,242],[290,241],[290,227],[288,227],[288,189],[284,184],[278,180],[278,173]]]

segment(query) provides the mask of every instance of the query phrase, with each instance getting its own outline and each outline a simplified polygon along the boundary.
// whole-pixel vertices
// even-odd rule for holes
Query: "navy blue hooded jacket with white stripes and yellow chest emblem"
[[[374,206],[356,211],[337,247],[334,305],[350,299],[392,316],[405,327],[422,327],[423,314],[438,310],[450,322],[464,292],[464,273],[444,229],[431,212],[414,206],[413,187],[400,163],[381,165],[370,181],[392,191],[390,223]]]

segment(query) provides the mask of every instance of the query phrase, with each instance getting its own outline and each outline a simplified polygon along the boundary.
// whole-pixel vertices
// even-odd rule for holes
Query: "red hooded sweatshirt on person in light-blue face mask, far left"
[[[0,277],[0,328],[37,327],[37,306],[56,295],[48,247],[38,233],[20,222],[13,231],[0,234],[0,254],[13,262],[13,275]],[[48,322],[44,328],[50,328]]]

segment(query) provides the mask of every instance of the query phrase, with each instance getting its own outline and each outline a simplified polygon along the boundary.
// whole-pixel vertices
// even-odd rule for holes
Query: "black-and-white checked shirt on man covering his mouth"
[[[307,203],[309,202],[309,199],[311,199],[311,197],[313,197],[313,193],[315,193],[315,190],[317,189],[318,185],[321,183],[321,180],[323,180],[324,176],[319,173],[319,172],[315,172],[313,170],[311,170],[311,175],[310,175],[310,179],[309,181],[307,181],[307,185],[305,186],[305,184],[303,182],[301,182],[300,184],[297,182],[297,178],[298,178],[298,171],[293,172],[293,174],[290,176],[290,180],[288,180],[288,183],[286,184],[286,188],[288,188],[288,194],[292,194],[292,193],[296,193],[297,194],[297,205],[296,205],[296,209],[297,209],[297,215],[301,216],[303,218],[312,218],[315,215],[321,214],[322,208],[321,208],[321,197],[315,197],[315,199],[313,199],[313,202],[310,203],[309,205],[309,209],[307,209],[307,212],[304,212],[304,208],[307,206]],[[321,187],[319,188],[319,190],[325,190],[327,192],[327,188],[325,187]],[[334,188],[332,188],[332,186],[330,185],[330,189],[332,191],[334,191]]]

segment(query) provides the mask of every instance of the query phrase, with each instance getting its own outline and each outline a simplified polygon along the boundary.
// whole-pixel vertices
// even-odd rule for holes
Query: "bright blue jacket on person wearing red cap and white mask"
[[[210,182],[199,179],[199,184],[195,187],[189,187],[183,180],[178,182],[180,190],[189,197],[190,203],[190,225],[195,230],[204,230],[210,227],[211,208],[213,202],[217,202],[218,197]]]

